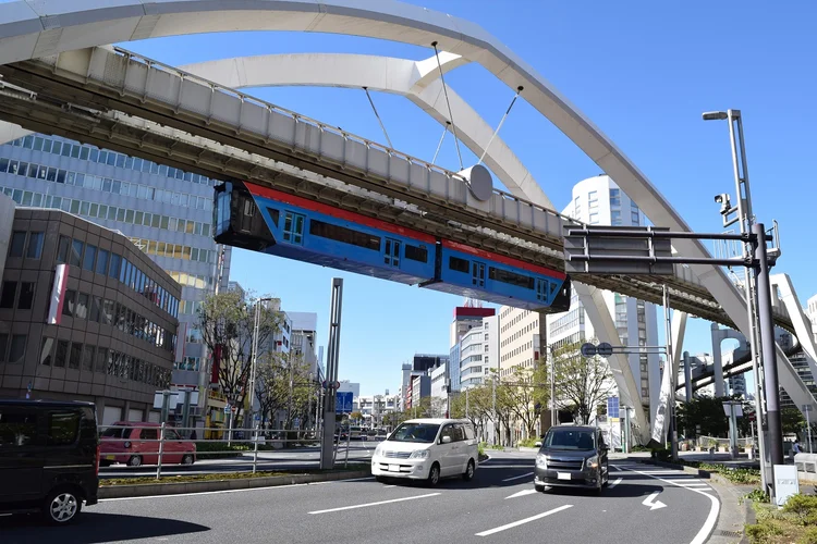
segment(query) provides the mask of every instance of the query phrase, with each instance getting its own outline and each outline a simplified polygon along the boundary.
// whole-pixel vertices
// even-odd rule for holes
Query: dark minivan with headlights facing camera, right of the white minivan
[[[607,452],[595,426],[552,426],[536,455],[534,487],[585,487],[599,493],[609,481]]]

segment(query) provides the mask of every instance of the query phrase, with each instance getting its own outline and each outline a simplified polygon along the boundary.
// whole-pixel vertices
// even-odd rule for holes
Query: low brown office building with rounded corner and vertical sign
[[[122,234],[1,195],[0,249],[0,397],[93,401],[100,424],[158,421],[179,284]]]

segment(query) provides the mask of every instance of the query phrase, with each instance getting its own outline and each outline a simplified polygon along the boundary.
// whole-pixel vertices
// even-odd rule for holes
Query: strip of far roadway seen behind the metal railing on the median
[[[350,462],[368,462],[378,444],[379,442],[375,441],[352,442],[349,448]],[[346,445],[342,444],[338,448],[336,466],[342,467],[345,459]],[[163,475],[178,475],[240,472],[252,470],[252,452],[241,457],[231,457],[228,459],[208,459],[206,455],[200,455],[199,460],[192,466],[162,465],[161,473]],[[319,462],[320,448],[317,447],[258,452],[258,470],[314,469],[318,467]],[[129,467],[126,465],[111,465],[110,467],[101,467],[99,469],[99,478],[134,478],[155,474],[156,466]]]

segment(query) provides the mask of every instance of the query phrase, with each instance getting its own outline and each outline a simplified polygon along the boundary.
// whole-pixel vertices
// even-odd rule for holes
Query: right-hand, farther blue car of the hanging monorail
[[[560,312],[570,309],[570,281],[563,272],[440,240],[438,283],[426,287],[479,300]]]

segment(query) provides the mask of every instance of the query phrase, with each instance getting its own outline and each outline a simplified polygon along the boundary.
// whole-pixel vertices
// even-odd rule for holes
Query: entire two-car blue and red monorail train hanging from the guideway
[[[223,183],[215,199],[219,244],[516,308],[570,309],[561,271],[251,183]]]

